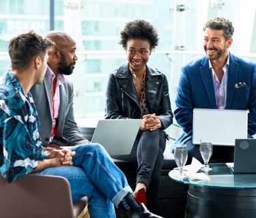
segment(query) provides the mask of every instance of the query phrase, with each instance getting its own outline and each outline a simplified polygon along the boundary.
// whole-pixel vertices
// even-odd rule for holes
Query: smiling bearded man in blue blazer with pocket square
[[[233,26],[225,18],[214,18],[203,27],[206,56],[182,67],[174,115],[184,130],[172,145],[188,146],[192,157],[203,163],[199,146],[193,144],[193,108],[248,110],[248,138],[256,133],[256,65],[229,52]],[[214,146],[212,158],[233,161],[233,146]]]

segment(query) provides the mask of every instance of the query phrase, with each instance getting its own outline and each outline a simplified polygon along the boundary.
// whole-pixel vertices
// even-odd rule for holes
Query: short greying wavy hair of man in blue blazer
[[[208,20],[208,22],[206,22],[203,27],[203,31],[205,31],[206,28],[223,30],[223,34],[226,40],[233,36],[234,29],[232,22],[226,20],[225,18],[216,17],[212,20]]]

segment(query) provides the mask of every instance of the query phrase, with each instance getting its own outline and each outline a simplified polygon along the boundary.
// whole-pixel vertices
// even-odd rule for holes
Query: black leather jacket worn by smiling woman
[[[150,65],[146,65],[146,68],[147,108],[150,114],[156,113],[156,116],[160,116],[162,129],[166,129],[173,123],[167,78],[165,74]],[[128,63],[109,75],[106,87],[105,119],[141,119],[139,99]]]

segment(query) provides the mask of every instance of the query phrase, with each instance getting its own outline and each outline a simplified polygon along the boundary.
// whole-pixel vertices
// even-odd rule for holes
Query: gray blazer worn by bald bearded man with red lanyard
[[[73,85],[67,76],[65,76],[65,80],[66,82],[59,86],[59,124],[53,142],[61,146],[85,144],[88,140],[83,137],[76,121],[74,121]],[[35,107],[38,110],[40,120],[39,134],[42,144],[47,146],[53,128],[51,86],[47,74],[45,74],[42,84],[34,84],[30,91],[33,95]]]

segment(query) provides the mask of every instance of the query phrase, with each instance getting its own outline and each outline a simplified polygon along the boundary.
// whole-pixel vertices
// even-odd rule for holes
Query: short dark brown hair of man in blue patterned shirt
[[[24,71],[29,68],[31,61],[39,56],[44,61],[44,55],[53,42],[44,39],[42,36],[29,31],[12,38],[9,44],[9,55],[12,63],[12,70]]]

